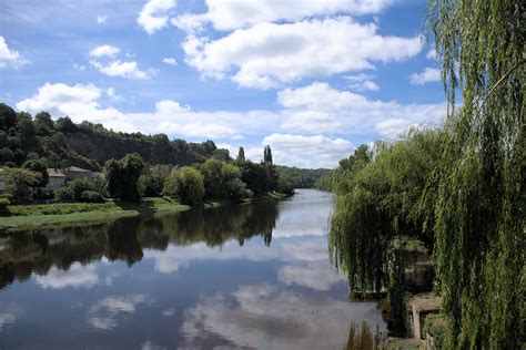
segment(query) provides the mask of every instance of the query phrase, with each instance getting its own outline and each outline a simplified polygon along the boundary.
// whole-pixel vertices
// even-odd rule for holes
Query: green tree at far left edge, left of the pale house
[[[4,167],[2,173],[8,183],[8,193],[18,204],[31,200],[31,188],[42,181],[40,173],[24,168]]]

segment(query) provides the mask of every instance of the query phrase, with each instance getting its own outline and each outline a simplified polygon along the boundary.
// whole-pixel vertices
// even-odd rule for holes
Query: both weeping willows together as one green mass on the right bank
[[[352,288],[391,284],[395,237],[433,251],[447,349],[525,344],[524,13],[524,1],[431,0],[444,125],[360,147],[325,179],[332,259]]]

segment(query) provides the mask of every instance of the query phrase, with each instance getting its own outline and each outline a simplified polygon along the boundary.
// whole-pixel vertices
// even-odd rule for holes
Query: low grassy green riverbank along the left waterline
[[[286,195],[269,193],[262,198],[246,200],[280,200]],[[204,208],[232,205],[229,200],[210,200]],[[0,230],[24,230],[64,226],[88,226],[102,224],[122,217],[146,214],[173,214],[191,209],[192,206],[180,204],[169,197],[145,197],[141,203],[54,203],[9,206],[9,216],[0,217]]]

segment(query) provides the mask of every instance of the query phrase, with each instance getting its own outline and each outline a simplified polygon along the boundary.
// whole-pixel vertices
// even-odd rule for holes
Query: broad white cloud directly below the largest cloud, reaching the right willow
[[[363,95],[333,89],[327,83],[285,89],[277,93],[285,107],[281,112],[282,128],[306,133],[351,134],[376,131],[395,136],[396,130],[418,124],[437,124],[445,114],[445,104],[401,104],[395,101],[368,100]],[[393,120],[397,120],[393,124]]]

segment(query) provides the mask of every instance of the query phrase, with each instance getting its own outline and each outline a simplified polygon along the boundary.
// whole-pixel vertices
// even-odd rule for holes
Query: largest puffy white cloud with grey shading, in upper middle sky
[[[422,50],[418,37],[382,37],[377,30],[375,23],[361,24],[348,17],[257,23],[216,40],[190,34],[183,50],[185,62],[203,76],[233,74],[237,84],[261,89],[373,69],[374,62],[403,61]]]

